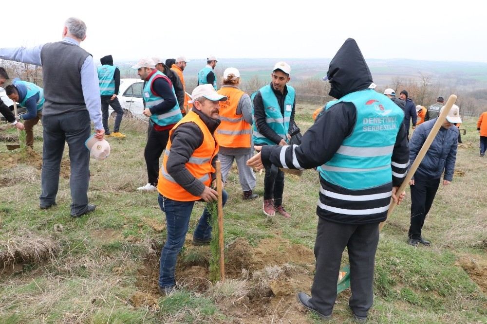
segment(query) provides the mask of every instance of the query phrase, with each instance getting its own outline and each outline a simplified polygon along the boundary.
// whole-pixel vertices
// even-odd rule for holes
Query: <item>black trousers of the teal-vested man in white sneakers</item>
[[[159,178],[159,159],[162,151],[166,148],[169,141],[168,130],[155,130],[149,132],[147,138],[146,148],[144,149],[144,158],[147,165],[148,182],[157,187],[157,179]]]

